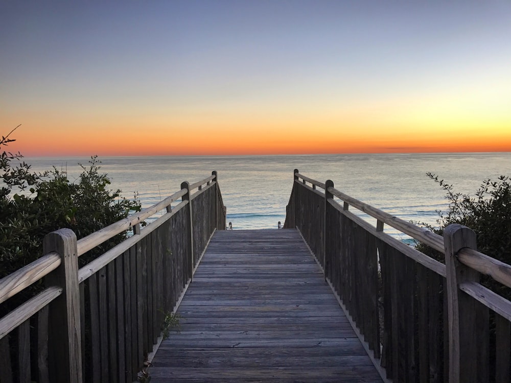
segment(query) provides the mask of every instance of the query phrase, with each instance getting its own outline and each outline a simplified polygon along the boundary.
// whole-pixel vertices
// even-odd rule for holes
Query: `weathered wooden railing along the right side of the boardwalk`
[[[323,189],[322,191],[317,188]],[[350,211],[376,219],[373,226]],[[445,254],[445,265],[384,232],[388,225]],[[382,375],[399,382],[510,381],[511,266],[476,251],[461,225],[444,237],[294,171],[284,228],[298,228]]]

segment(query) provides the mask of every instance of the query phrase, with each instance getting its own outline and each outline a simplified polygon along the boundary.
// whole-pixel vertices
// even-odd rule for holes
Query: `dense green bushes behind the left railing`
[[[14,129],[15,130],[15,129]],[[13,131],[14,131],[13,130]],[[14,139],[2,136],[0,147]],[[8,275],[42,255],[44,235],[60,228],[72,229],[82,238],[126,218],[130,210],[140,211],[136,200],[121,197],[121,190],[109,190],[110,180],[100,173],[97,156],[82,167],[76,182],[69,181],[65,170],[33,173],[22,155],[3,151],[0,155],[0,277]],[[80,257],[85,262],[122,241],[118,234]]]

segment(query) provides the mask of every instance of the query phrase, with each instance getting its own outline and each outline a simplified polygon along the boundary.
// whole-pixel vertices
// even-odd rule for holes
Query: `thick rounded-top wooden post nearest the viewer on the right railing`
[[[476,249],[476,235],[470,228],[458,224],[444,230],[444,248],[447,273],[447,308],[449,318],[449,382],[477,381],[477,344],[472,342],[477,332],[474,304],[467,294],[458,289],[463,282],[479,282],[479,273],[457,258],[462,248]],[[461,363],[464,362],[463,366]],[[472,366],[471,368],[471,365]]]

